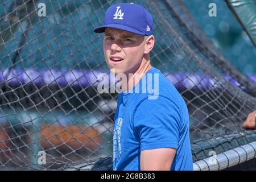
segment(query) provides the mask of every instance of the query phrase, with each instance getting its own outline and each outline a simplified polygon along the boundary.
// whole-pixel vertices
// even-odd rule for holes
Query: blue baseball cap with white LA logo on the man
[[[153,31],[153,18],[141,5],[119,3],[106,10],[104,25],[96,27],[94,32],[103,33],[107,27],[149,36]]]

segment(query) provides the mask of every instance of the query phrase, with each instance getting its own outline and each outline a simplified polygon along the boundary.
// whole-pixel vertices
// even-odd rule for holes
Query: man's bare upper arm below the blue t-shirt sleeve
[[[170,171],[176,148],[156,148],[141,151],[142,171]]]

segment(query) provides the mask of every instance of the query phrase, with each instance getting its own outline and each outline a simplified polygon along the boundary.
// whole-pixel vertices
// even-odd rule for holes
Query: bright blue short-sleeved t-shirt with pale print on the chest
[[[171,170],[193,170],[187,106],[175,86],[152,67],[118,96],[113,169],[140,170],[141,151],[154,148],[176,148]]]

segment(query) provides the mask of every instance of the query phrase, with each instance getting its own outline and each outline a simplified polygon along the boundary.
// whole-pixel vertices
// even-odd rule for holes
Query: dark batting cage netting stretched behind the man
[[[112,169],[118,93],[98,92],[98,75],[110,71],[93,28],[119,2],[130,1],[1,1],[0,169]],[[182,1],[133,2],[154,18],[151,64],[187,104],[194,169],[255,169],[256,131],[242,129],[256,109],[255,80]]]

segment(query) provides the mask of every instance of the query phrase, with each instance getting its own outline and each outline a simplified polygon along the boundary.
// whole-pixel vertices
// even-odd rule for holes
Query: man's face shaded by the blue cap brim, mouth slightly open
[[[103,43],[106,63],[115,74],[135,73],[141,65],[145,44],[143,35],[106,28]]]

